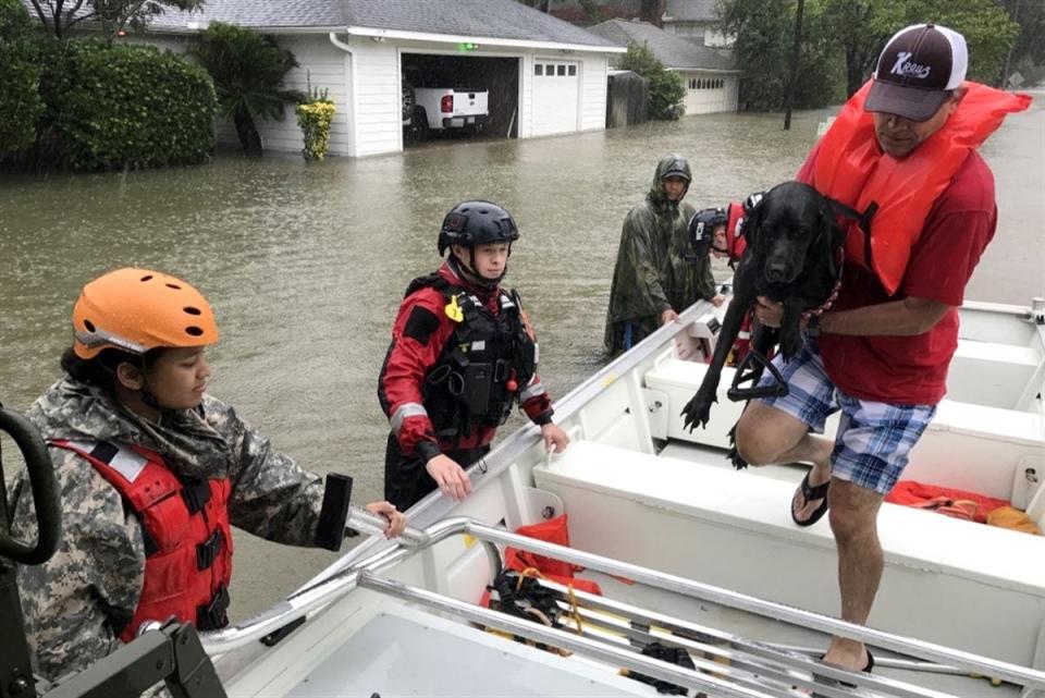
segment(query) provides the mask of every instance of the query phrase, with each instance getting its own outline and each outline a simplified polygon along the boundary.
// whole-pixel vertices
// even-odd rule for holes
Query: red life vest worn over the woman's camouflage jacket
[[[130,642],[147,621],[170,616],[213,630],[229,623],[232,530],[229,478],[182,481],[160,454],[104,441],[52,440],[89,462],[112,485],[142,524],[145,580],[131,622]]]

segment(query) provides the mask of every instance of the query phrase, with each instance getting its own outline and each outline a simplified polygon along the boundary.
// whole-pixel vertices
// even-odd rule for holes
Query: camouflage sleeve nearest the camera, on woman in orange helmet
[[[62,539],[42,565],[19,568],[19,592],[35,670],[54,681],[112,652],[138,604],[145,574],[142,528],[120,494],[86,461],[51,449],[62,498]],[[23,473],[24,476],[24,473]],[[27,487],[12,532],[35,540]]]

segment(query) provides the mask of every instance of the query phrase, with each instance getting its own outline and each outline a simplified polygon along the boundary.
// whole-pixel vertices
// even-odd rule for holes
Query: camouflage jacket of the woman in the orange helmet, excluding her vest
[[[209,395],[197,409],[164,413],[156,425],[66,376],[27,416],[45,439],[138,444],[160,452],[179,475],[228,476],[234,526],[282,543],[315,544],[320,476],[273,451],[231,406]],[[62,498],[62,540],[50,561],[19,570],[19,590],[34,668],[53,681],[119,646],[116,636],[138,603],[145,546],[137,518],[94,466],[67,450],[50,453]],[[11,494],[12,532],[35,539],[24,470]]]

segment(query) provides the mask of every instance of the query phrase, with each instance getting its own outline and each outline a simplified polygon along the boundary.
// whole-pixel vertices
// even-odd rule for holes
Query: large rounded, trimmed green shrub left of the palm
[[[206,71],[149,46],[71,41],[46,87],[56,136],[77,170],[194,164],[213,147]]]

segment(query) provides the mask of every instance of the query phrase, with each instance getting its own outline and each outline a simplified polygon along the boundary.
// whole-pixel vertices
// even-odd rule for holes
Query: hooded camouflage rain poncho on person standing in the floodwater
[[[715,296],[710,258],[692,258],[687,224],[696,209],[681,200],[669,201],[664,193],[665,172],[689,172],[688,163],[679,160],[676,156],[661,160],[646,200],[624,220],[606,313],[604,343],[611,356],[624,348],[627,323],[632,323],[636,344],[660,326],[665,310],[681,313]]]

